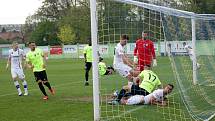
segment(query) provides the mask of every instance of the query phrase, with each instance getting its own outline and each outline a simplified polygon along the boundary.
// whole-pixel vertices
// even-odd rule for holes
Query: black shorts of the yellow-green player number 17
[[[146,91],[145,89],[140,88],[138,85],[132,85],[131,86],[131,95],[143,95],[146,96],[148,95],[149,92]]]

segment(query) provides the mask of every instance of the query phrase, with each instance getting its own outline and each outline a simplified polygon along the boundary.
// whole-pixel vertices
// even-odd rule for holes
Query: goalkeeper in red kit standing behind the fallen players
[[[154,44],[148,33],[142,32],[142,38],[136,41],[134,62],[138,64],[137,69],[140,71],[143,71],[146,65],[157,66]]]

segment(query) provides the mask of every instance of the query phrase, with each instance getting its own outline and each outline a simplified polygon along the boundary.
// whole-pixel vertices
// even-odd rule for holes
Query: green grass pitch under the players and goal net
[[[112,60],[104,60],[107,65]],[[167,57],[158,58],[158,66],[153,70],[163,84],[176,85],[170,62]],[[56,90],[52,96],[48,89],[49,100],[42,100],[42,93],[34,80],[31,70],[25,70],[29,96],[17,95],[11,80],[10,70],[5,70],[6,60],[0,61],[0,121],[92,121],[92,81],[84,86],[84,62],[80,59],[53,59],[48,61],[47,74]],[[91,80],[92,74],[90,74]],[[21,82],[20,82],[21,84]],[[101,119],[102,120],[146,120],[165,121],[190,120],[177,86],[169,97],[168,107],[157,106],[110,106],[106,105],[106,94],[120,89],[126,79],[118,74],[100,78]],[[21,85],[22,87],[22,85]],[[23,88],[22,88],[23,90]],[[131,118],[132,117],[132,118]]]

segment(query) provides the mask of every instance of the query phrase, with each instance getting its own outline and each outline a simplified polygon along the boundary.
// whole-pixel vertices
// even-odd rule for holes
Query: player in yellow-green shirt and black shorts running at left
[[[31,68],[34,72],[35,79],[38,83],[38,86],[42,93],[44,94],[43,99],[47,100],[48,95],[46,94],[45,88],[43,85],[46,85],[49,88],[49,91],[51,94],[55,94],[53,88],[51,88],[50,83],[48,82],[48,78],[46,75],[46,57],[44,56],[44,53],[41,49],[36,48],[35,42],[29,43],[29,48],[31,49],[26,54],[26,62],[28,64],[28,67]]]

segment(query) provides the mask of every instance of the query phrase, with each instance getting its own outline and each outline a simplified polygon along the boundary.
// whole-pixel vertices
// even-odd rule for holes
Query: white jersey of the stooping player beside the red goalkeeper
[[[113,65],[117,65],[119,63],[123,63],[122,55],[125,54],[125,48],[118,43],[114,49],[114,61]]]

